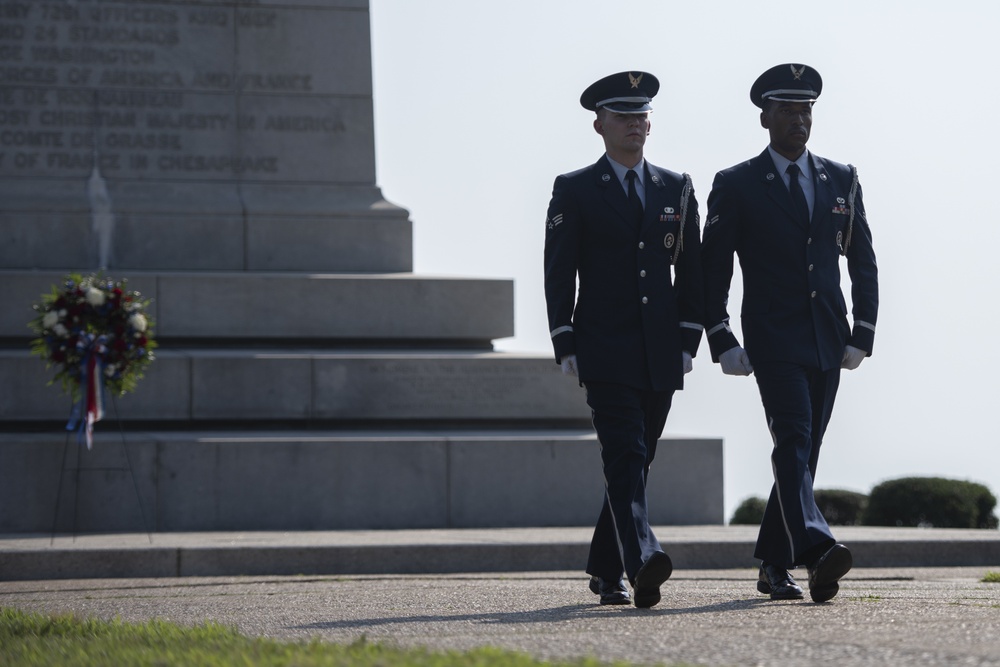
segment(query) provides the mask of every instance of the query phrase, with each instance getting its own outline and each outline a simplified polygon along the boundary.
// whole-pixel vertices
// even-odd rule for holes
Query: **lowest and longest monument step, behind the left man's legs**
[[[651,476],[651,523],[724,522],[721,440]],[[592,526],[603,488],[582,429],[0,433],[0,533]]]

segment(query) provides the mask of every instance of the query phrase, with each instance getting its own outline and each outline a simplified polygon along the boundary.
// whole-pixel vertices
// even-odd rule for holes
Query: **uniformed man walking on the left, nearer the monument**
[[[586,388],[606,481],[591,590],[602,604],[628,604],[624,575],[637,607],[659,602],[673,569],[649,527],[646,479],[697,353],[704,307],[691,179],[643,157],[658,89],[656,77],[634,71],[584,91],[606,153],[556,178],[545,220],[555,359]]]

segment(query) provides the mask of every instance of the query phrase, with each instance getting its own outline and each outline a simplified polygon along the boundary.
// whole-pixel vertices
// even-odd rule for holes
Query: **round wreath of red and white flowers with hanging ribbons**
[[[153,362],[150,300],[129,290],[125,280],[101,274],[71,274],[61,287],[53,285],[34,304],[37,315],[28,326],[37,338],[31,352],[73,399],[68,430],[79,425],[80,439],[92,446],[94,422],[104,415],[104,394],[120,396],[136,388]]]

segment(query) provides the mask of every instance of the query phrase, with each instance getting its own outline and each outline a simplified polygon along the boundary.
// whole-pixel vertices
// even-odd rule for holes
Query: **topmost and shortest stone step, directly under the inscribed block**
[[[511,280],[395,274],[108,272],[153,299],[161,341],[358,341],[492,349],[514,335]],[[30,338],[28,322],[66,272],[0,271],[0,338]]]

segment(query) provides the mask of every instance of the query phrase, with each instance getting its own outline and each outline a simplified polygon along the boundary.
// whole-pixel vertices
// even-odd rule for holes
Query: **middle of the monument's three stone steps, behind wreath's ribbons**
[[[0,420],[65,420],[70,400],[27,349],[0,350]],[[547,355],[414,350],[157,350],[124,422],[588,425],[583,389]]]

